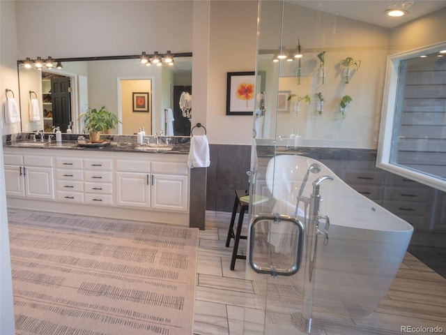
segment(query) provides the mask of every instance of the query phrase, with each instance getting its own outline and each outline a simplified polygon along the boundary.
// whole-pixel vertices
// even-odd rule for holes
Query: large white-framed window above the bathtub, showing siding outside
[[[446,191],[445,50],[443,44],[389,58],[377,162],[441,191]]]

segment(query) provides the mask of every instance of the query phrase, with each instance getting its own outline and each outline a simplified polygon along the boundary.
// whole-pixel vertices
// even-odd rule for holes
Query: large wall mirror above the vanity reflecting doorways
[[[178,101],[183,91],[192,94],[192,53],[175,57],[174,66],[144,66],[137,56],[58,61],[62,68],[54,61],[54,68],[42,70],[17,63],[23,132],[50,132],[54,126],[66,132],[70,125],[73,133],[82,133],[79,115],[104,105],[122,122],[113,133],[134,135],[142,127],[148,135],[166,133],[171,109],[174,135],[190,135]],[[135,106],[141,99],[144,104]],[[35,115],[31,101],[38,106]]]

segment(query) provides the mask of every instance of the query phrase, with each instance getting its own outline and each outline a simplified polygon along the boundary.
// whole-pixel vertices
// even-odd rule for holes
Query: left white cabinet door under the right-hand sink
[[[150,207],[148,173],[116,172],[116,204],[125,207]]]

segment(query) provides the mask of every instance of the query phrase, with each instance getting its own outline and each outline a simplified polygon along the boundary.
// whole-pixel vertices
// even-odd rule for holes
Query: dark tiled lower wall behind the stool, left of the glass
[[[236,189],[248,188],[251,146],[210,144],[210,166],[206,187],[206,209],[232,211]]]

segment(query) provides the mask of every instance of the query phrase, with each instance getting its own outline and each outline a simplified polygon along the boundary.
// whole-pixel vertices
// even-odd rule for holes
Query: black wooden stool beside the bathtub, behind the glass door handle
[[[245,255],[238,255],[238,242],[240,239],[247,239],[245,235],[240,235],[242,231],[243,225],[243,216],[245,216],[245,211],[249,208],[249,202],[245,202],[244,200],[240,200],[241,198],[246,196],[245,190],[236,190],[236,201],[234,202],[234,207],[232,209],[231,223],[229,224],[228,237],[226,238],[226,248],[229,247],[231,243],[231,239],[234,239],[234,246],[232,250],[232,258],[231,258],[231,270],[236,266],[236,260],[246,260]],[[240,213],[238,214],[238,223],[237,230],[234,234],[234,222],[236,221],[236,214],[238,207],[240,206]]]

